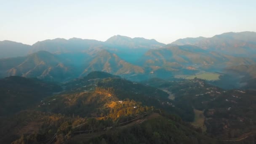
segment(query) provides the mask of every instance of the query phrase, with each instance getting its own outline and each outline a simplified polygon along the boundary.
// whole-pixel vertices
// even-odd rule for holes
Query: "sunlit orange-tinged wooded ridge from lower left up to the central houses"
[[[140,102],[125,99],[110,108],[108,113],[101,114],[101,117],[80,117],[65,116],[61,114],[48,114],[45,112],[28,112],[26,115],[20,115],[25,119],[32,117],[40,118],[39,131],[29,135],[22,135],[13,144],[43,144],[49,141],[56,144],[62,144],[69,141],[72,136],[80,133],[96,133],[105,131],[109,127],[118,127],[119,124],[130,122],[136,117],[150,114],[153,107],[144,107]],[[30,115],[30,114],[34,115]],[[22,121],[22,120],[19,120]],[[37,120],[33,120],[37,121]]]

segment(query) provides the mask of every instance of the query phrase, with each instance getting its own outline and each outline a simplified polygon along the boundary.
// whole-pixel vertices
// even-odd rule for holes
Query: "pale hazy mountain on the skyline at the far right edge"
[[[197,45],[198,47],[232,56],[253,57],[256,53],[256,32],[227,32],[213,37],[179,39],[171,44]]]

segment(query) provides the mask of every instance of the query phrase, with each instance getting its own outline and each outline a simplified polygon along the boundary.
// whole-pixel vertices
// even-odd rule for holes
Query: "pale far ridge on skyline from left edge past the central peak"
[[[48,51],[50,53],[75,53],[75,52],[88,52],[95,50],[113,50],[117,51],[120,48],[160,48],[163,43],[159,43],[156,40],[148,40],[142,37],[126,37],[121,35],[115,35],[110,37],[105,42],[98,40],[89,40],[81,38],[70,38],[68,40],[64,38],[56,38],[53,40],[38,41],[33,45],[25,45],[22,43],[16,43],[9,40],[0,41],[0,50],[5,53],[0,54],[1,58],[26,56],[30,53],[37,51]],[[17,51],[17,53],[16,53]]]

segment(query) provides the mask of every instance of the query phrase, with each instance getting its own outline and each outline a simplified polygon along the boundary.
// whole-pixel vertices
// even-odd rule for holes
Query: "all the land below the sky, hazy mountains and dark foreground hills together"
[[[0,143],[254,144],[255,36],[0,42]]]

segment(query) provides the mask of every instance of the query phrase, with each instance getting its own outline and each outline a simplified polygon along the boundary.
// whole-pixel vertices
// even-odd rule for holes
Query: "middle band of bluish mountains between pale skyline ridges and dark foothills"
[[[0,59],[0,77],[19,75],[63,82],[85,76],[92,71],[104,71],[139,81],[149,77],[192,76],[201,71],[220,72],[225,67],[255,64],[250,58],[210,52],[192,45],[167,45],[159,49],[146,49],[143,56],[139,56],[142,54],[139,50],[139,55],[130,53],[136,55],[135,57],[139,56],[139,60],[129,53],[123,53],[124,49],[115,51],[102,48],[104,47],[82,53],[53,54],[39,51],[24,57]],[[133,62],[130,63],[119,55],[128,60],[133,59]]]

